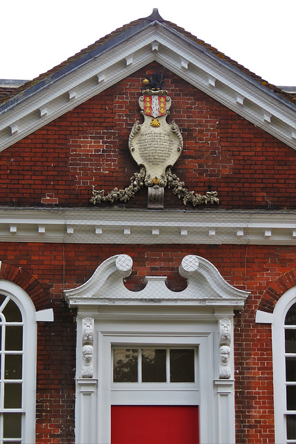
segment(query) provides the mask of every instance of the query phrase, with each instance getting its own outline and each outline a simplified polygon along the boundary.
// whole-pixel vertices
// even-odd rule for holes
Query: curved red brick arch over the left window
[[[40,282],[23,268],[2,263],[0,268],[0,279],[14,282],[21,287],[21,289],[26,291],[28,296],[33,300],[36,311],[51,307],[49,296]]]

